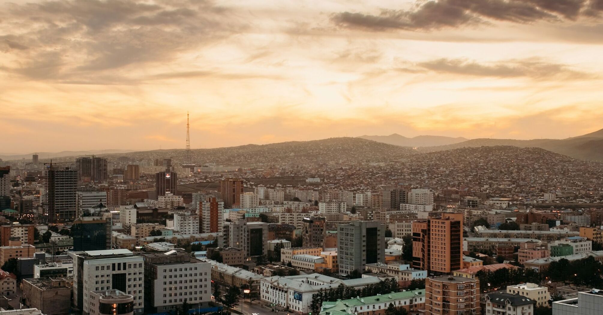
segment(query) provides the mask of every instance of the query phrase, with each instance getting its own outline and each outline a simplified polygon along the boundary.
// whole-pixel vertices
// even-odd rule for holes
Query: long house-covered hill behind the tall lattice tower
[[[297,165],[355,164],[359,162],[382,162],[406,158],[416,151],[408,147],[384,144],[360,138],[329,138],[315,141],[291,141],[274,144],[248,144],[238,147],[194,149],[193,161],[223,165],[256,167],[271,165],[295,167]],[[163,159],[174,162],[185,160],[185,150],[153,150],[119,154],[104,154],[107,157],[128,156],[130,158]]]

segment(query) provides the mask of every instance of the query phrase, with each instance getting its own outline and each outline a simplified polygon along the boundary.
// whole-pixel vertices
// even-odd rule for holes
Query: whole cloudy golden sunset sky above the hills
[[[603,0],[0,0],[0,151],[603,128]]]

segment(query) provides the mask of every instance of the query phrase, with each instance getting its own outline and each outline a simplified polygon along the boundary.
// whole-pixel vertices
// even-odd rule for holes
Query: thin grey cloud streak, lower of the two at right
[[[505,60],[496,63],[476,63],[464,59],[438,59],[418,63],[428,71],[475,75],[481,77],[528,77],[535,80],[581,80],[595,75],[575,71],[566,65],[549,63],[539,59]]]

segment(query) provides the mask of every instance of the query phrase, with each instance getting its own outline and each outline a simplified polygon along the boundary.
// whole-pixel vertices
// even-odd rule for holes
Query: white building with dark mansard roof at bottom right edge
[[[534,314],[535,301],[519,294],[487,293],[485,294],[485,313],[506,315]]]

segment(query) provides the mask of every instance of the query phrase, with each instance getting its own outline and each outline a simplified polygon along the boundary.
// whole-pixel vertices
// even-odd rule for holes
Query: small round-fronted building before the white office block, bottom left
[[[89,315],[133,315],[136,313],[136,296],[121,290],[100,290],[90,292]],[[86,313],[84,313],[86,314]]]

